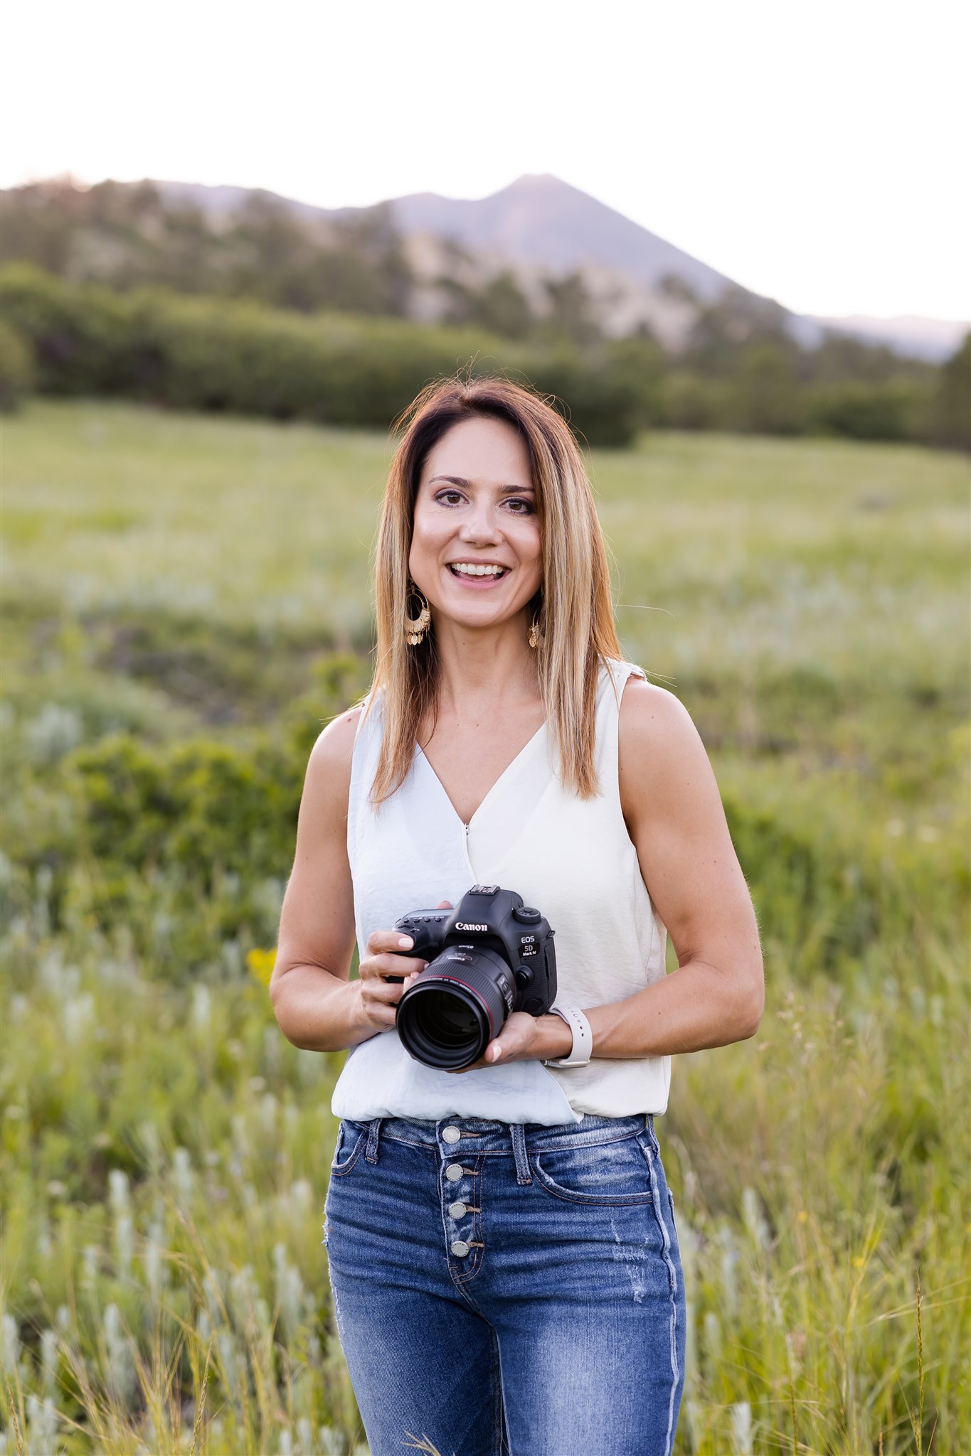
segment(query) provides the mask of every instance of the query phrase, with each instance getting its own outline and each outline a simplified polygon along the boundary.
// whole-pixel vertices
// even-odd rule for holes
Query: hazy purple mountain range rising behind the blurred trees
[[[233,211],[247,195],[246,188],[234,186],[185,182],[156,182],[156,186],[172,201],[192,202],[214,215]],[[313,207],[272,192],[262,195],[307,220],[338,220],[364,211]],[[607,332],[622,335],[646,323],[674,349],[696,316],[693,300],[713,303],[726,288],[754,297],[709,264],[549,175],[521,176],[477,199],[416,192],[384,205],[424,282],[418,312],[425,317],[435,316],[440,304],[435,280],[443,271],[454,271],[450,249],[454,253],[456,246],[469,255],[464,268],[470,277],[510,268],[533,300],[542,297],[544,277],[579,272]],[[830,319],[788,310],[786,326],[804,347],[818,344],[825,331],[833,331],[935,361],[951,355],[968,328],[965,322],[910,314]]]

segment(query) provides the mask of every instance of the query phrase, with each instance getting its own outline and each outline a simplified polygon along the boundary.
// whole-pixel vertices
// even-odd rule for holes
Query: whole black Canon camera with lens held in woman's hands
[[[542,1016],[556,1000],[553,930],[514,890],[473,885],[457,909],[412,910],[395,929],[415,942],[402,955],[428,961],[396,1012],[402,1044],[425,1066],[469,1067],[514,1010]]]

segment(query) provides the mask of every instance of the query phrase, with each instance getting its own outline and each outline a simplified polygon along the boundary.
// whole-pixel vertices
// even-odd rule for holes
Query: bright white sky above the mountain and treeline
[[[968,317],[961,0],[44,0],[0,185],[325,207],[553,172],[805,313]]]

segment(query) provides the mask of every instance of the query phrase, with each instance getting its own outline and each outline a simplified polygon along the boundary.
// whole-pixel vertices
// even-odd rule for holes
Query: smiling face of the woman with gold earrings
[[[507,622],[536,596],[536,491],[526,441],[511,425],[463,419],[428,451],[408,565],[432,614],[467,628]]]

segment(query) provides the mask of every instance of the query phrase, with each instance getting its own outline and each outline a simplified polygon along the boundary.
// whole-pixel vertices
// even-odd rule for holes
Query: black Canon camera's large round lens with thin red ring
[[[444,951],[397,1005],[397,1035],[406,1051],[445,1072],[477,1061],[505,1021],[499,977],[508,977],[508,967],[495,951]]]

